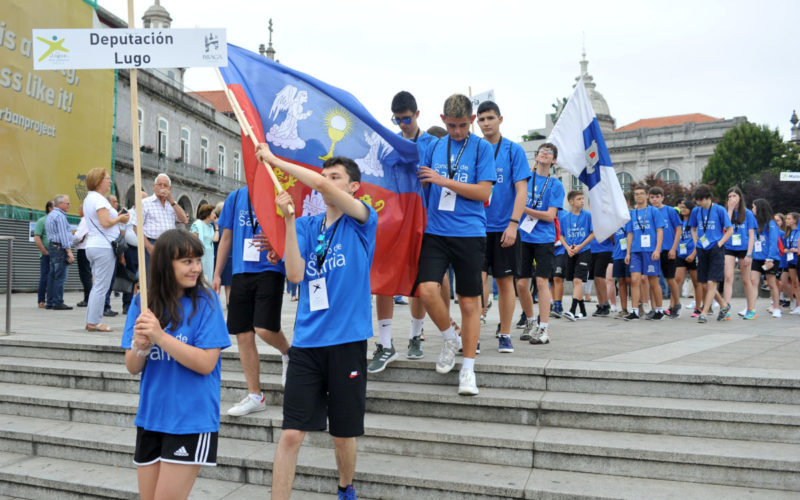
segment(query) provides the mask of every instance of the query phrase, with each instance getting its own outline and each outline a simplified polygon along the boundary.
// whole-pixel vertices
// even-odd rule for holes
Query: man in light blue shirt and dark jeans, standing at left
[[[47,290],[47,309],[57,311],[72,309],[64,304],[64,284],[67,282],[67,271],[69,264],[75,261],[72,255],[72,233],[67,222],[67,210],[69,210],[69,196],[65,194],[56,195],[53,199],[55,208],[47,215],[45,220],[45,230],[49,240],[50,254],[50,276]]]

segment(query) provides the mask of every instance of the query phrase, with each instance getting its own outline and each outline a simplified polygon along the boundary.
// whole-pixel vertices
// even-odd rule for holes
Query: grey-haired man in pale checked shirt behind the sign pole
[[[144,231],[145,257],[148,266],[156,239],[164,231],[175,229],[176,221],[187,224],[189,217],[172,198],[172,181],[169,176],[158,174],[153,183],[153,195],[142,200],[142,230]]]

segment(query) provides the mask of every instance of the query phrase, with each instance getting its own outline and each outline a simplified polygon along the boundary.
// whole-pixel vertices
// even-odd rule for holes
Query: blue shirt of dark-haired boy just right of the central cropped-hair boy
[[[486,232],[502,232],[508,227],[519,181],[531,177],[531,167],[522,146],[505,137],[492,146],[497,183],[492,188],[492,197],[486,207]]]

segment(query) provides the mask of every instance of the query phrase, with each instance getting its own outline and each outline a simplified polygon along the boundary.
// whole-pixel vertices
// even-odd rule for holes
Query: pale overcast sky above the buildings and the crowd
[[[154,0],[136,0],[136,27]],[[99,4],[127,20],[125,0]],[[420,124],[441,124],[444,99],[494,89],[501,132],[519,141],[568,97],[583,38],[589,73],[618,127],[641,118],[746,116],[789,137],[800,108],[800,1],[255,1],[161,0],[173,28],[226,28],[258,51],[355,95],[384,125],[399,90]],[[192,90],[216,90],[190,69]]]

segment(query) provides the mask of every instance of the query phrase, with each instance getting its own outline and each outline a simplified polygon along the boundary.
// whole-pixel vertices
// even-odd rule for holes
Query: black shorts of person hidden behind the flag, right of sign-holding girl
[[[283,284],[286,277],[277,271],[234,274],[228,303],[228,333],[237,335],[264,328],[281,330]]]

